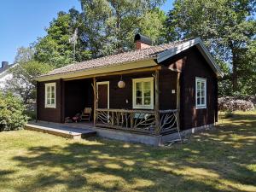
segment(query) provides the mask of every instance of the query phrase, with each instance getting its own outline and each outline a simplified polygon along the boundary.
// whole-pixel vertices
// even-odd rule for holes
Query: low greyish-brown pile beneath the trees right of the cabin
[[[223,111],[249,111],[253,110],[253,102],[237,99],[234,96],[226,96],[218,98],[218,109]]]

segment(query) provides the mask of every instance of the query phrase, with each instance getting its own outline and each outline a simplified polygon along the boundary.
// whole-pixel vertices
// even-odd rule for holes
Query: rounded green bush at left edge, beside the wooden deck
[[[25,106],[19,98],[0,92],[0,131],[22,129],[27,121],[24,112]]]

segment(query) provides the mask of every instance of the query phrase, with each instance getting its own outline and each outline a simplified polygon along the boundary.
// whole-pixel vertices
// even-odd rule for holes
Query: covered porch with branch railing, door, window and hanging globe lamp
[[[63,79],[61,122],[84,108],[92,108],[90,121],[96,129],[152,136],[171,134],[179,129],[179,76],[177,71],[157,66]],[[119,81],[125,86],[120,88]]]

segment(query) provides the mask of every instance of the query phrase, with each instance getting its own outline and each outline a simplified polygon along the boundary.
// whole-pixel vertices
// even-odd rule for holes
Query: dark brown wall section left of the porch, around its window
[[[56,108],[45,108],[45,85],[56,83]],[[48,82],[38,82],[37,84],[37,119],[50,122],[61,122],[61,79]]]

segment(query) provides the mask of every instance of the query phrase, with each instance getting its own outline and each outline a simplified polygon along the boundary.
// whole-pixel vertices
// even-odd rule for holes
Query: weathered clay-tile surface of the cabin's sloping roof
[[[183,44],[184,42],[189,40],[190,39],[186,39],[183,41],[176,41],[169,44],[160,44],[156,46],[151,46],[146,49],[136,49],[136,50],[131,50],[125,53],[108,55],[108,56],[100,57],[97,59],[92,59],[89,61],[77,62],[65,67],[56,68],[55,70],[43,76],[50,76],[50,75],[64,74],[64,73],[76,73],[76,72],[84,71],[90,68],[108,67],[108,66],[119,65],[122,63],[129,63],[133,61],[143,61],[150,58],[154,58],[160,52],[166,49],[174,48],[179,44]]]

